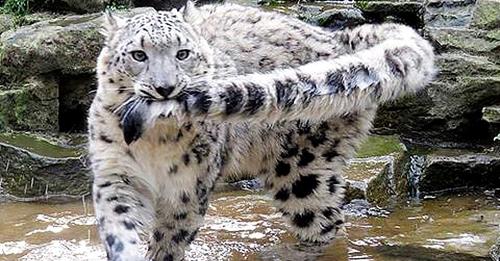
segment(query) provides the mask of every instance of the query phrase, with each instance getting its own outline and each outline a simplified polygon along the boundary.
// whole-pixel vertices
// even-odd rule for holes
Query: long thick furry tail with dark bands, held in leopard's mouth
[[[147,115],[135,118],[152,123],[181,112],[210,120],[274,122],[322,120],[363,110],[414,93],[434,78],[432,46],[407,30],[407,37],[384,40],[332,60],[194,82],[178,97],[181,106],[174,101],[153,102]]]

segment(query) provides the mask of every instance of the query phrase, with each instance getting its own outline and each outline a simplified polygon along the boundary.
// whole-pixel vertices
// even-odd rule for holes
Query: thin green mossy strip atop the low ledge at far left
[[[83,153],[79,149],[58,146],[34,135],[24,133],[2,133],[0,134],[0,143],[51,158],[79,157]]]

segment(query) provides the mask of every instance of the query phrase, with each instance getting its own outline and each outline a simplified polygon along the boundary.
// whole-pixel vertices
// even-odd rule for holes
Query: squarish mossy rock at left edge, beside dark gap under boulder
[[[0,86],[0,130],[58,131],[58,84],[52,77],[32,77],[19,87]]]

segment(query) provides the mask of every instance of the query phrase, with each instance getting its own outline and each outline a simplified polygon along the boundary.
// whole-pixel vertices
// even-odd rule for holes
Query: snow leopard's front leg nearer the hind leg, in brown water
[[[224,137],[223,130],[217,134]],[[163,192],[154,199],[154,222],[147,252],[150,260],[183,260],[186,248],[202,225],[210,193],[224,164],[220,141],[207,138],[201,135],[191,141],[192,147],[182,154],[182,162],[170,170],[174,173],[169,174],[168,186],[161,188]]]

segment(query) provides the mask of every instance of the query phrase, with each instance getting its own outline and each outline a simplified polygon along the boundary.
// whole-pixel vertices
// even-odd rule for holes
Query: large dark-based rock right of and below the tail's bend
[[[490,143],[482,108],[500,100],[500,66],[487,57],[445,53],[439,78],[416,96],[385,104],[376,132],[403,133],[416,141]]]

